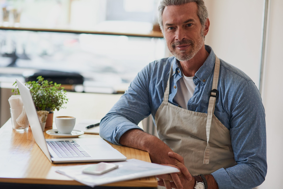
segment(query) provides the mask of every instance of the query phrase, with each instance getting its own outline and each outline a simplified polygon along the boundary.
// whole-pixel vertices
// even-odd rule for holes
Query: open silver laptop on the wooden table
[[[35,142],[53,163],[123,161],[127,158],[102,138],[45,139],[30,90],[16,79]]]

